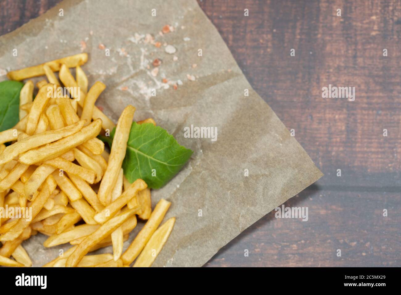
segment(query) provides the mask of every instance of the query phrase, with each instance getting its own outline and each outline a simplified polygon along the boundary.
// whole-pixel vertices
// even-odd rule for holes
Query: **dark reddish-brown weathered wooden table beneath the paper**
[[[3,0],[0,34],[58,2]],[[253,88],[325,174],[285,203],[308,207],[307,222],[270,212],[207,266],[400,267],[401,2],[198,3]],[[322,98],[329,84],[355,87],[355,100]]]

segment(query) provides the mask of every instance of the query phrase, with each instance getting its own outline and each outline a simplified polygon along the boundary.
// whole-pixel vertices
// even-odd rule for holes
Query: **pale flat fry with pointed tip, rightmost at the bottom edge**
[[[152,234],[152,237],[146,243],[138,259],[136,259],[134,267],[150,267],[152,265],[166,243],[168,236],[170,236],[174,223],[175,217],[172,217],[164,222],[164,224]]]

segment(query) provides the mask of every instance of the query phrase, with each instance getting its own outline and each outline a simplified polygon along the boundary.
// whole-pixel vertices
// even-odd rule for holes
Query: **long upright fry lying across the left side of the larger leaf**
[[[118,171],[121,168],[126,154],[127,141],[130,135],[134,113],[135,108],[132,105],[128,105],[118,119],[113,138],[114,144],[111,146],[107,169],[100,182],[99,192],[97,192],[97,196],[103,205],[107,205],[107,197],[111,193],[111,190],[113,190],[115,182],[117,181]]]

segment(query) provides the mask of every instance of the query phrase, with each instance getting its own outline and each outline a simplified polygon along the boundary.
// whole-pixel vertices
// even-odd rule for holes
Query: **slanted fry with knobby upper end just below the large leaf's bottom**
[[[146,182],[142,179],[135,180],[130,188],[126,190],[121,196],[119,196],[114,202],[107,205],[101,212],[97,213],[94,219],[98,223],[104,223],[114,216],[118,210],[123,208],[129,200],[131,200],[139,190],[144,190],[147,187]],[[134,209],[134,208],[133,208]],[[140,209],[140,206],[136,207],[136,212]]]

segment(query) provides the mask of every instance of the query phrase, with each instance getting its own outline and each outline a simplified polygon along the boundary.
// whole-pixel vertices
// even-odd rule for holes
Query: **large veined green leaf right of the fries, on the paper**
[[[142,178],[150,188],[161,188],[181,170],[192,153],[163,128],[134,122],[122,165],[124,175],[131,183]]]

